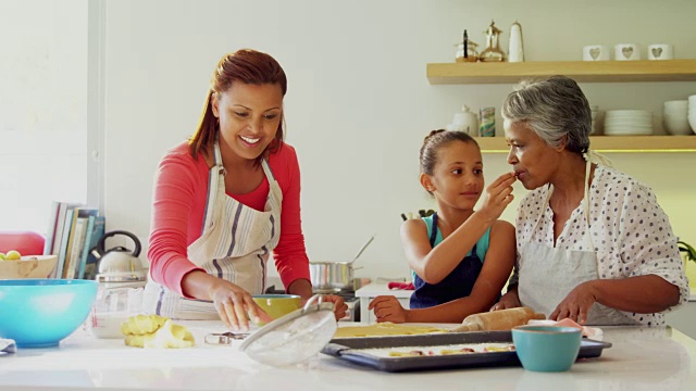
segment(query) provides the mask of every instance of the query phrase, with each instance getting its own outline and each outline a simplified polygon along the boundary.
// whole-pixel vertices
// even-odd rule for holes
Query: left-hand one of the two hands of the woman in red
[[[229,281],[220,279],[211,287],[210,298],[213,301],[220,318],[232,331],[248,331],[249,319],[254,324],[273,320],[251,299],[251,294]],[[247,319],[247,315],[249,319]]]

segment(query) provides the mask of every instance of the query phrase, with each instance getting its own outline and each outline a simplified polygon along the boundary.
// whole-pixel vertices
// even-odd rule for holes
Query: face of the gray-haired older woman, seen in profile
[[[510,147],[508,163],[525,189],[536,189],[549,182],[558,165],[558,151],[549,147],[525,123],[504,123]]]

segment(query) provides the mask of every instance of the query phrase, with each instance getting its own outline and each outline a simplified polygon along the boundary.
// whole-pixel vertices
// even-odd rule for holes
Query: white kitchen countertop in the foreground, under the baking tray
[[[197,345],[182,350],[127,348],[78,330],[60,348],[24,349],[0,356],[0,390],[694,390],[696,341],[671,328],[606,327],[598,358],[570,371],[544,374],[522,367],[387,374],[318,354],[307,363],[275,368],[233,345],[206,345],[216,321],[178,321]],[[348,324],[349,325],[349,324]],[[341,324],[343,326],[343,324]]]

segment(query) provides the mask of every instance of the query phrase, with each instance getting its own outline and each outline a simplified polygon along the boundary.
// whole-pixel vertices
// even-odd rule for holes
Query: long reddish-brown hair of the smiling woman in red
[[[220,131],[220,123],[215,115],[213,115],[213,93],[225,92],[229,90],[235,83],[278,85],[283,91],[283,97],[285,97],[285,92],[287,92],[285,72],[283,67],[281,67],[281,64],[271,55],[251,49],[241,49],[223,55],[217,62],[213,77],[210,80],[210,90],[206,97],[203,112],[196,133],[188,141],[194,159],[198,157],[198,153],[207,153],[212,150],[215,137]],[[279,150],[284,137],[283,122],[284,118],[281,117],[278,128],[275,131],[275,139],[266,147],[265,151],[259,155],[257,163],[261,163],[264,156]]]

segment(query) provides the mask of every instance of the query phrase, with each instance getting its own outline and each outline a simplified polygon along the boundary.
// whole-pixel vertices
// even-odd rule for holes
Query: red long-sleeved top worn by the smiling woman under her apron
[[[269,166],[283,191],[281,239],[273,250],[283,285],[310,279],[309,258],[300,219],[300,168],[295,149],[286,143],[269,156]],[[150,230],[150,276],[172,291],[185,295],[182,280],[187,273],[203,270],[187,257],[187,248],[202,234],[210,169],[202,155],[190,154],[188,142],[170,150],[160,162],[154,180]],[[269,180],[246,194],[229,194],[238,202],[263,211]],[[204,270],[203,270],[204,272]]]

